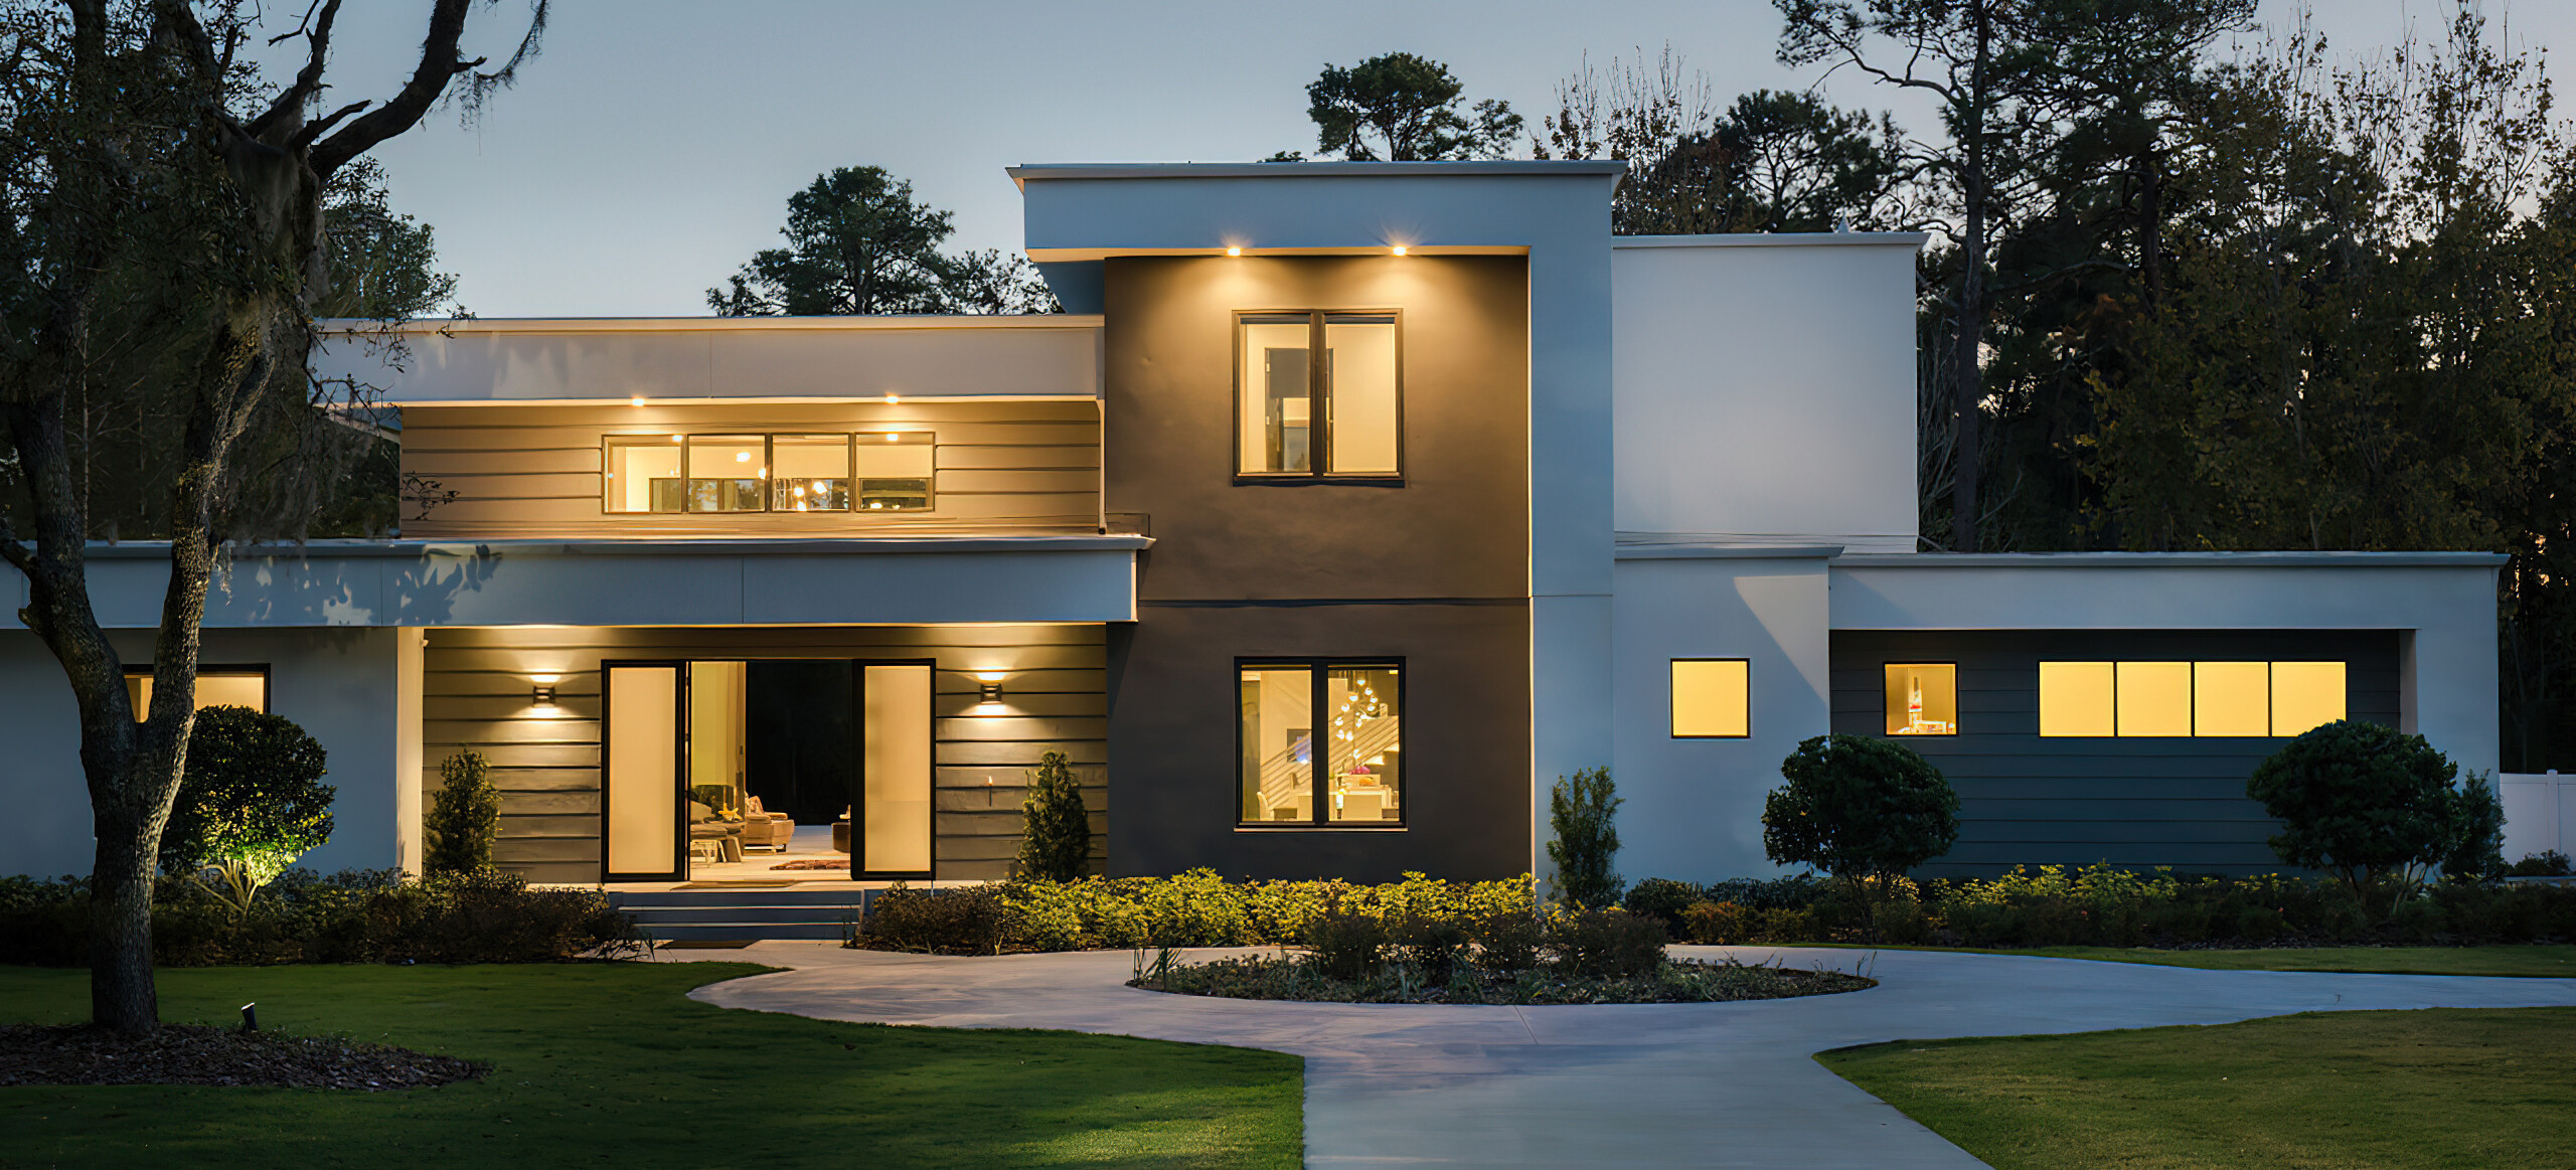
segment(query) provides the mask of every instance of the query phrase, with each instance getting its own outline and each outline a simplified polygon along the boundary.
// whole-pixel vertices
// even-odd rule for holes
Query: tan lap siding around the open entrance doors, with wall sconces
[[[600,660],[930,657],[938,876],[1007,876],[1025,776],[1048,750],[1074,760],[1095,850],[1108,843],[1103,626],[433,629],[428,639],[422,791],[438,791],[451,753],[484,753],[502,791],[495,861],[533,881],[600,879]],[[981,706],[976,670],[1010,675],[999,709]],[[562,675],[551,714],[528,704],[538,673]]]

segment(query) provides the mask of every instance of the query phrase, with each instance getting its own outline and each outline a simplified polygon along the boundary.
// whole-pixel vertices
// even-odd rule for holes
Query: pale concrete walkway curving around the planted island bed
[[[1193,959],[1213,951],[1193,951]],[[1677,946],[1852,969],[1860,951]],[[1072,1028],[1306,1057],[1306,1165],[1978,1167],[1808,1059],[1893,1039],[2231,1023],[2300,1010],[2576,1005],[2576,979],[2197,972],[1880,951],[1880,987],[1803,1000],[1445,1008],[1126,987],[1123,951],[940,959],[755,943],[796,966],[690,992],[724,1008],[943,1028]]]

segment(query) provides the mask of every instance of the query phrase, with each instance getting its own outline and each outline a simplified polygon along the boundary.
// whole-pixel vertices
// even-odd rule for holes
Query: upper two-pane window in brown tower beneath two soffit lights
[[[1394,312],[1236,314],[1234,469],[1260,479],[1396,479]]]

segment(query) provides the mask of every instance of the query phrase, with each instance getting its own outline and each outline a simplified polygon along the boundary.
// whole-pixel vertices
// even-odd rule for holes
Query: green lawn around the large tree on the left
[[[1298,1057],[824,1023],[683,992],[747,964],[227,966],[160,974],[162,1018],[487,1059],[410,1093],[0,1088],[0,1167],[1293,1167]],[[0,966],[0,1018],[88,1015],[88,972]]]

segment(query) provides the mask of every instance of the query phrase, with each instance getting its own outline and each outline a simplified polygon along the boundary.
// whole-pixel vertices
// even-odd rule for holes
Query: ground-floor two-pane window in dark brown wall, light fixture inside
[[[1399,662],[1244,662],[1236,696],[1242,825],[1404,825]]]

